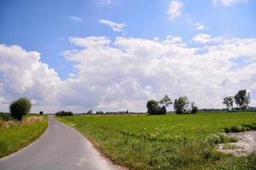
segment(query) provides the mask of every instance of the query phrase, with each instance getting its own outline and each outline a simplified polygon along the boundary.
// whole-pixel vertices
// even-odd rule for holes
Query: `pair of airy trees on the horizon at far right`
[[[250,93],[247,93],[247,90],[240,90],[234,96],[224,97],[223,104],[226,106],[228,111],[233,111],[235,102],[241,111],[245,111],[249,107],[250,101]]]

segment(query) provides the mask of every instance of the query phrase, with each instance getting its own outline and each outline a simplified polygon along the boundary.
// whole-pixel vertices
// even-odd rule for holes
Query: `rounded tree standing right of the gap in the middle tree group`
[[[174,110],[177,114],[183,114],[189,107],[189,99],[187,96],[179,97],[174,100]]]

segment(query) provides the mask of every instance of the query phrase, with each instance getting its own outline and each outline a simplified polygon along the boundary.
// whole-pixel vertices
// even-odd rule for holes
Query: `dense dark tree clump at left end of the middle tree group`
[[[160,106],[160,103],[154,99],[151,99],[147,103],[147,109],[149,115],[164,115],[166,114],[166,107]]]

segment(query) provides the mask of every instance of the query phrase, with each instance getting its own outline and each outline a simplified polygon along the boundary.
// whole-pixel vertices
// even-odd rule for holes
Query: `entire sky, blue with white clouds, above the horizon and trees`
[[[255,0],[0,0],[0,111],[223,108],[241,89],[255,106],[255,16]]]

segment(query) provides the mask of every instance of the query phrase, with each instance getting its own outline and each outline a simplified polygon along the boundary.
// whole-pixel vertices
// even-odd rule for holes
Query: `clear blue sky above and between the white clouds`
[[[227,34],[232,37],[255,37],[256,1],[236,3],[228,7],[212,1],[182,1],[183,14],[179,20],[168,20],[166,10],[169,0],[120,1],[111,4],[91,0],[78,1],[1,1],[0,42],[19,44],[26,50],[41,53],[41,59],[66,79],[73,71],[61,52],[71,48],[68,37],[123,36],[99,20],[125,23],[125,37],[153,39],[168,35],[189,40],[198,32],[194,23],[204,23],[205,31],[212,36]],[[71,20],[76,16],[84,21]],[[192,21],[189,21],[192,20]]]

